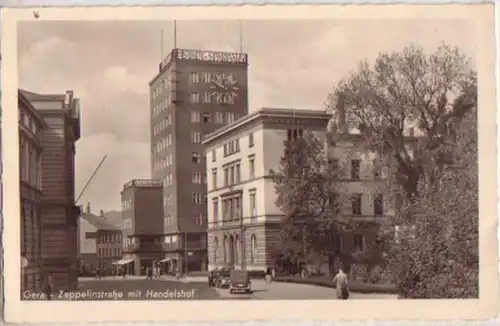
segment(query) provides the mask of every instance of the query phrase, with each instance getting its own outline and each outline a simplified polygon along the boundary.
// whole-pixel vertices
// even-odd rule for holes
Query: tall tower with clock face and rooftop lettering
[[[181,271],[207,267],[202,138],[248,113],[247,68],[243,53],[173,49],[149,84],[152,177],[164,184],[165,259]]]

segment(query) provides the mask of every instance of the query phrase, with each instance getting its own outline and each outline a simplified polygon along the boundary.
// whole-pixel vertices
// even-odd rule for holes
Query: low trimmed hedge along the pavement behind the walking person
[[[278,276],[274,279],[274,281],[335,288],[335,284],[332,282],[332,280],[325,277],[321,278],[308,277],[303,279],[300,276]],[[391,284],[372,284],[372,283],[362,283],[357,281],[349,281],[349,289],[352,292],[358,292],[358,293],[383,293],[383,294],[398,293],[396,286]]]

